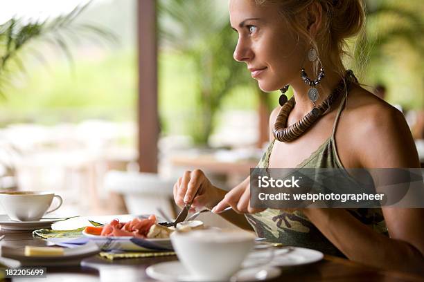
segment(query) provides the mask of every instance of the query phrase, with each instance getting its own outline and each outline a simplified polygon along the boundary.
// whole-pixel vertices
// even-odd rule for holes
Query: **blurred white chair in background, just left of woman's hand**
[[[175,216],[173,186],[175,180],[166,180],[157,173],[135,171],[108,171],[105,190],[122,194],[130,214],[157,214],[161,208],[168,216]]]

